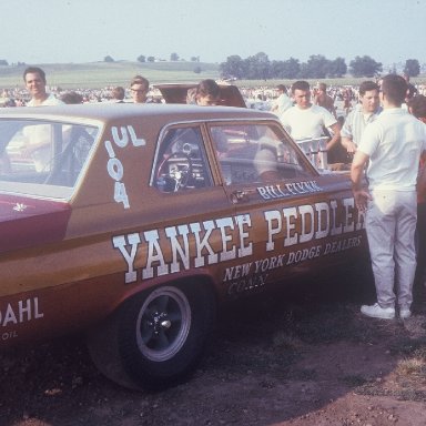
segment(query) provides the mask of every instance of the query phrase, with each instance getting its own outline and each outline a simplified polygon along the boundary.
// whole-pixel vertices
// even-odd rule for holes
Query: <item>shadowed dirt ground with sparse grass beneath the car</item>
[[[194,375],[155,394],[104,378],[82,336],[2,354],[0,425],[426,425],[424,287],[403,322],[363,317],[357,284],[341,274],[226,307]]]

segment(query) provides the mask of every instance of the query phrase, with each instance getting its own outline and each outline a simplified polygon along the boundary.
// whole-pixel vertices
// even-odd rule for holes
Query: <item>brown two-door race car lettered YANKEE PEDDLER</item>
[[[217,304],[367,251],[348,178],[229,106],[4,109],[0,219],[1,348],[85,331],[130,387],[193,371]]]

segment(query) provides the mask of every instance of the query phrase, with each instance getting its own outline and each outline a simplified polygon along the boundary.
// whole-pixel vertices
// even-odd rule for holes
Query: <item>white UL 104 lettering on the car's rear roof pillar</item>
[[[116,203],[122,203],[124,209],[130,209],[130,202],[125,185],[122,182],[124,175],[123,163],[116,155],[116,149],[123,149],[131,143],[133,146],[144,146],[146,144],[144,139],[136,136],[136,133],[132,125],[116,126],[111,128],[112,141],[105,141],[105,150],[109,155],[106,163],[108,174],[115,181],[114,183],[114,201]]]

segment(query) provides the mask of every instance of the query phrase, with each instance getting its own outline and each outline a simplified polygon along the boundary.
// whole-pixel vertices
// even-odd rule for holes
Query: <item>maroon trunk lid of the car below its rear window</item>
[[[64,202],[0,193],[0,253],[62,240],[70,214]]]

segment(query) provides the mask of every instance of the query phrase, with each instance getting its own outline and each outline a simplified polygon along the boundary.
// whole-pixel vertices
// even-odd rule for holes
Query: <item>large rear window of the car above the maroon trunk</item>
[[[47,120],[0,120],[0,190],[68,199],[99,128]]]

